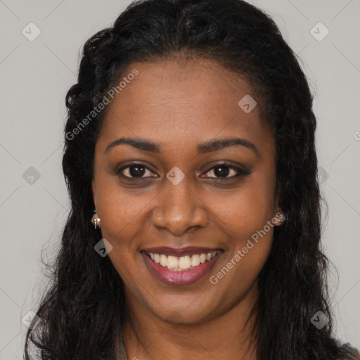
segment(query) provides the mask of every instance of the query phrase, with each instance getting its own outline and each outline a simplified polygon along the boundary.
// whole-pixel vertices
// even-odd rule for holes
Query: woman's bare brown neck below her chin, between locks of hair
[[[254,285],[231,309],[198,323],[176,322],[176,314],[169,322],[146,307],[129,307],[132,325],[128,321],[122,329],[128,359],[255,360],[251,338],[254,317],[250,317],[250,310],[256,295]]]

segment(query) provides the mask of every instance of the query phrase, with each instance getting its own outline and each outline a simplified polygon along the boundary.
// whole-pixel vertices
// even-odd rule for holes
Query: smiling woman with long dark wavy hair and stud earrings
[[[273,20],[135,2],[86,41],[66,101],[41,359],[360,359],[333,338],[316,119]]]

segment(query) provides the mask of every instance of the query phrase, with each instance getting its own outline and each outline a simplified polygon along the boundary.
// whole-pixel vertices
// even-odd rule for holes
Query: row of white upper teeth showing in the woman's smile
[[[212,253],[208,252],[207,254],[196,254],[192,256],[186,255],[182,257],[153,254],[151,252],[148,252],[148,255],[150,255],[151,259],[154,262],[166,267],[169,270],[182,271],[193,269],[195,266],[204,264],[204,262],[213,259],[215,255],[217,255],[217,251],[214,251]]]

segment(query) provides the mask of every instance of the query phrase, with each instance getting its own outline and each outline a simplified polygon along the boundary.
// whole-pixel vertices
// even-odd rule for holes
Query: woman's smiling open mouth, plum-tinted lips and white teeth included
[[[224,253],[210,248],[153,248],[142,250],[146,267],[167,285],[190,285],[210,272]]]

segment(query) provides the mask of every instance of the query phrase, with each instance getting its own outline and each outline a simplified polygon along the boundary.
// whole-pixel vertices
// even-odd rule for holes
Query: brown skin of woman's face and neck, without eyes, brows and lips
[[[259,105],[250,113],[238,105],[245,94],[255,97],[250,84],[212,60],[133,63],[124,74],[134,68],[139,75],[108,105],[92,183],[103,238],[113,245],[108,256],[124,281],[142,342],[133,328],[124,327],[128,359],[169,359],[170,354],[173,360],[255,359],[252,320],[245,322],[274,227],[216,284],[210,276],[281,211],[274,200],[274,137],[262,123]],[[123,144],[104,153],[120,137],[148,139],[162,150]],[[245,146],[196,153],[200,142],[231,137],[250,141],[257,153]],[[221,183],[214,169],[221,161],[250,174],[230,179],[236,171],[229,169]],[[116,174],[129,162],[150,167],[139,175],[147,179],[131,180],[129,167],[123,176]],[[185,175],[177,185],[166,177],[175,166]],[[143,262],[140,250],[157,246],[224,253],[210,274],[176,287],[158,281]]]

